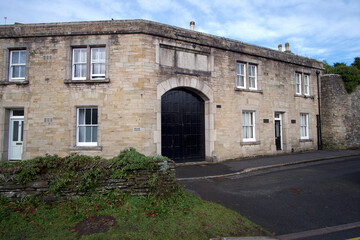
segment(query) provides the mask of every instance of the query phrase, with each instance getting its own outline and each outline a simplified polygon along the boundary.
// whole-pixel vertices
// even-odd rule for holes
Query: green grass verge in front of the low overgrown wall
[[[260,235],[270,234],[237,212],[183,190],[166,199],[99,194],[50,203],[0,200],[0,239],[209,239]]]

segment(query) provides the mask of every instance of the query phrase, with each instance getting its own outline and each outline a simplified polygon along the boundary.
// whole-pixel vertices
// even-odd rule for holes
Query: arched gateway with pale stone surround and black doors
[[[157,153],[176,162],[213,161],[213,93],[197,79],[172,78],[158,85]]]

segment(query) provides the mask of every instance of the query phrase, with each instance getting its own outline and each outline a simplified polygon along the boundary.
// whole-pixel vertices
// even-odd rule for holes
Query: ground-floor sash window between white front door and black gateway
[[[96,107],[77,109],[77,146],[97,146],[98,109]]]

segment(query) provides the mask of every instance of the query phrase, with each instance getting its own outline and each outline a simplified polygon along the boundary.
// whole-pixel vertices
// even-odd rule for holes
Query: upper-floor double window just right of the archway
[[[247,71],[246,71],[247,70]],[[247,63],[236,63],[236,87],[257,89],[257,66]]]

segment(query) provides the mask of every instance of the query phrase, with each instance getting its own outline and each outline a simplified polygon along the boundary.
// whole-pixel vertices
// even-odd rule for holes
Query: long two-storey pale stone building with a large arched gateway
[[[2,160],[317,148],[322,63],[144,20],[0,26]]]

